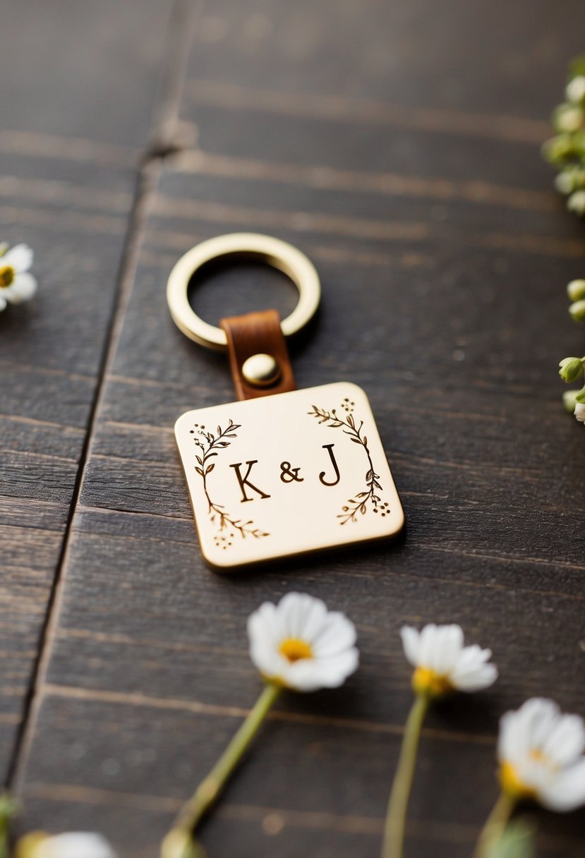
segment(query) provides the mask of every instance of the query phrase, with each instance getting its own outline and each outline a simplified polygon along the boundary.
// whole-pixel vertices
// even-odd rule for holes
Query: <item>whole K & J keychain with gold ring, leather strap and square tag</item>
[[[299,303],[275,310],[198,317],[187,290],[205,263],[248,257],[283,271]],[[370,403],[356,384],[297,390],[285,336],[317,311],[321,286],[305,254],[280,239],[232,233],[178,260],[166,287],[178,328],[227,351],[238,402],[187,411],[175,424],[203,558],[227,571],[249,564],[395,536],[400,498]]]

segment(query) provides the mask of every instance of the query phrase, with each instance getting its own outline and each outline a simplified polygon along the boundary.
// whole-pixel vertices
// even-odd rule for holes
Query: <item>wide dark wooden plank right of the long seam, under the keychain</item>
[[[166,159],[118,317],[20,758],[23,825],[97,828],[124,858],[154,858],[259,690],[248,613],[291,589],[352,617],[362,665],[339,691],[282,698],[203,831],[210,855],[379,853],[410,700],[404,622],[460,622],[502,674],[431,713],[407,855],[470,855],[504,710],[546,694],[585,714],[585,451],[555,372],[582,347],[563,287],[582,275],[585,240],[539,153],[583,12],[572,0],[434,11],[203,5],[181,106],[198,148]],[[115,211],[92,216],[115,232]],[[393,547],[231,578],[202,563],[172,425],[235,397],[225,358],[173,326],[165,284],[196,241],[243,228],[317,264],[323,309],[291,344],[295,376],[370,396],[407,515]],[[268,304],[286,314],[294,296],[248,266],[193,301],[217,323]],[[31,419],[58,425],[46,408]],[[46,435],[61,479],[75,452]],[[31,491],[14,462],[6,471]],[[54,537],[49,510],[44,523]],[[16,568],[38,563],[15,554]],[[539,819],[539,855],[583,854],[582,813]]]

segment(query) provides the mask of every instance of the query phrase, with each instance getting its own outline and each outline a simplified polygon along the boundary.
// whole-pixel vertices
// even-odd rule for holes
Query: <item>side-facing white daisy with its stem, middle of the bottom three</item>
[[[465,646],[460,625],[425,625],[417,631],[401,629],[407,661],[413,665],[414,702],[404,729],[388,813],[384,826],[382,858],[402,858],[408,800],[413,786],[420,733],[431,704],[454,692],[477,692],[491,686],[498,669],[489,662],[491,650]]]

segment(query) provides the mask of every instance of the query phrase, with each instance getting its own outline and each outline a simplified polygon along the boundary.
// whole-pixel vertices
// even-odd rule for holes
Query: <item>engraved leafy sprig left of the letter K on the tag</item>
[[[241,425],[234,423],[230,419],[225,429],[222,429],[221,426],[217,427],[217,434],[215,435],[213,432],[208,432],[205,426],[200,426],[198,423],[194,426],[195,428],[191,429],[190,433],[196,436],[194,441],[199,450],[201,450],[201,456],[196,455],[197,465],[195,469],[203,480],[203,491],[208,501],[209,517],[212,522],[217,522],[217,532],[214,536],[216,547],[221,547],[225,551],[226,548],[232,545],[232,539],[236,532],[242,539],[245,539],[246,536],[253,536],[255,539],[262,539],[263,536],[269,536],[270,534],[264,533],[263,530],[257,528],[251,519],[244,522],[241,518],[232,518],[226,511],[225,506],[212,500],[209,494],[208,475],[211,474],[215,467],[215,462],[209,463],[209,459],[219,456],[219,450],[229,447],[232,443],[232,438],[238,437],[237,431],[242,428]],[[228,438],[230,440],[227,440]]]

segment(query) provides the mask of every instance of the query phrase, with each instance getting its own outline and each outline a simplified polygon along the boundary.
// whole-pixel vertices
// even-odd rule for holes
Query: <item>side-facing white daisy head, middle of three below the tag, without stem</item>
[[[477,644],[464,646],[461,625],[431,623],[422,631],[403,625],[401,638],[404,654],[416,668],[413,688],[419,694],[439,697],[453,691],[477,692],[498,678],[496,666],[486,663],[492,650],[482,650]]]

